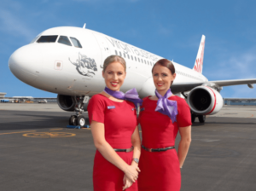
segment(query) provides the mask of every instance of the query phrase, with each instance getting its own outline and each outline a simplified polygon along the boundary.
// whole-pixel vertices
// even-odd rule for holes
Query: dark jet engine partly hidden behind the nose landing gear
[[[57,102],[59,107],[61,107],[62,110],[67,112],[73,112],[76,106],[74,96],[58,95]]]

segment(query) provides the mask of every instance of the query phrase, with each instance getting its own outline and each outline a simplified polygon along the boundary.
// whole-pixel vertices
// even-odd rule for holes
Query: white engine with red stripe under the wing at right
[[[192,112],[199,115],[218,113],[223,107],[223,98],[217,90],[207,86],[198,86],[190,91],[188,104]]]

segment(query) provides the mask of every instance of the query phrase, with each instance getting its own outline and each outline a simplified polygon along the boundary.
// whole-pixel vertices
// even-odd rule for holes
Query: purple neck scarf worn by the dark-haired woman
[[[165,96],[161,96],[157,90],[154,93],[158,97],[157,107],[154,111],[167,115],[172,119],[172,123],[176,122],[177,101],[168,100],[172,96],[172,91],[170,89],[167,90]]]

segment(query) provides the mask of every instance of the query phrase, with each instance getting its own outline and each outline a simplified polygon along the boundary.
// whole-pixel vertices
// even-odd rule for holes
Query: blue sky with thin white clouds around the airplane
[[[256,78],[256,2],[172,0],[38,0],[0,2],[0,92],[55,97],[20,82],[9,56],[55,26],[83,26],[192,68],[206,35],[203,74],[209,80]],[[256,97],[247,85],[224,97]]]

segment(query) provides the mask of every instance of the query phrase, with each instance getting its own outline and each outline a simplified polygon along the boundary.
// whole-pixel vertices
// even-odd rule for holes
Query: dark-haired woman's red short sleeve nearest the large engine
[[[177,126],[187,127],[191,124],[190,107],[183,98],[180,98],[177,100]]]

